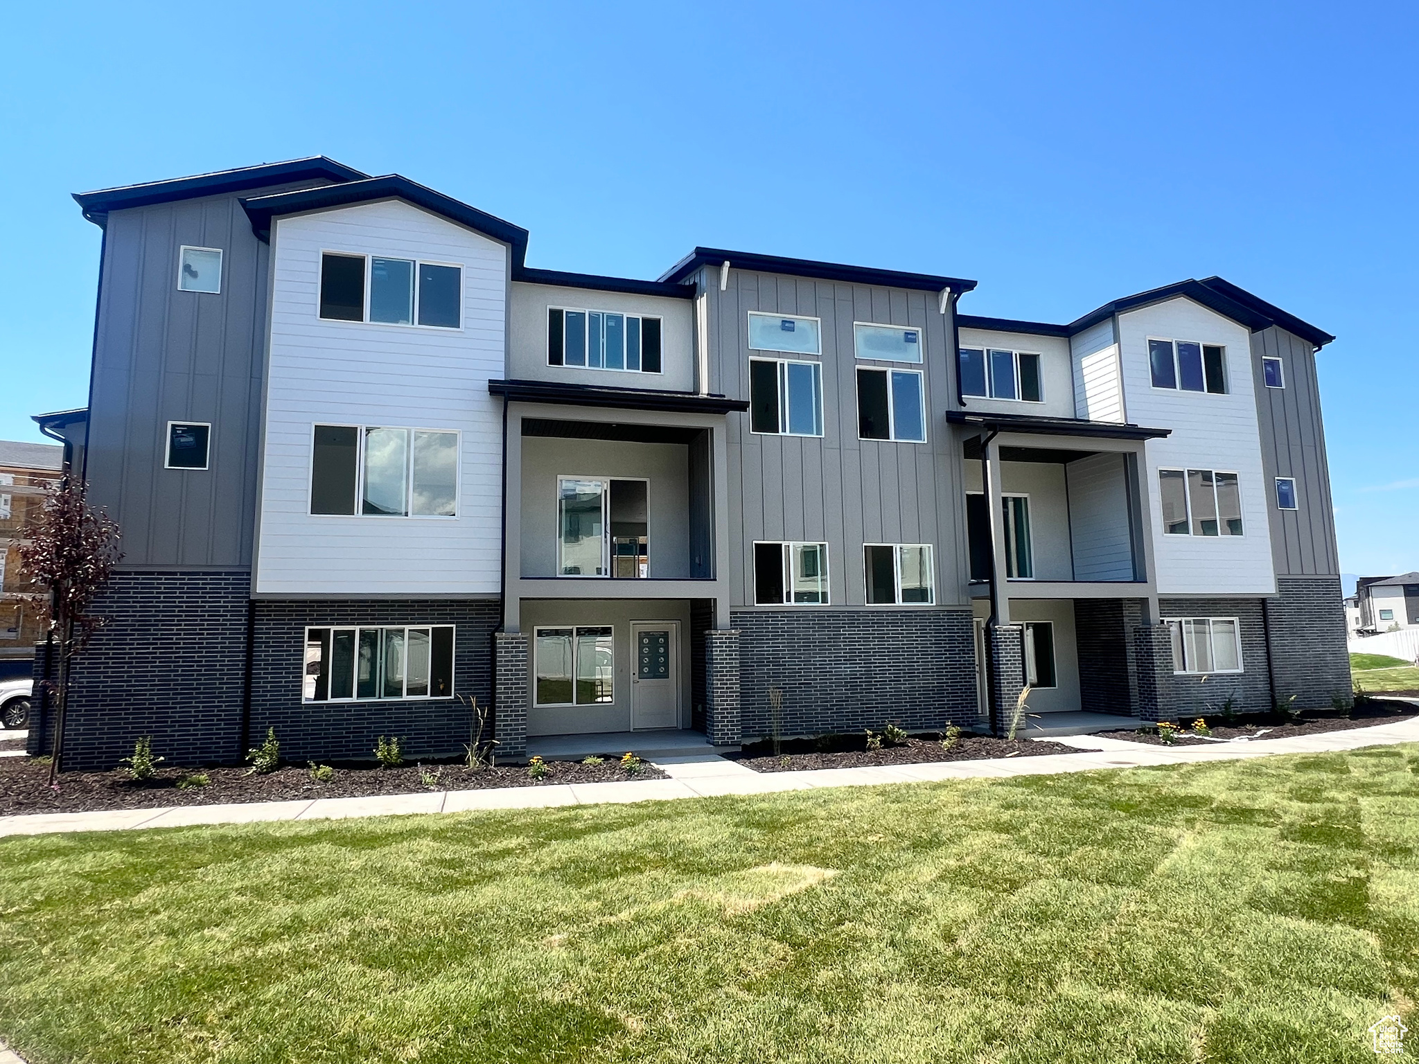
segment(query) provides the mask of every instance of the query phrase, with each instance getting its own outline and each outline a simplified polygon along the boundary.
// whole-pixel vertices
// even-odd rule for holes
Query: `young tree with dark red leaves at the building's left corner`
[[[50,600],[50,640],[58,648],[58,682],[48,684],[54,695],[54,748],[50,786],[58,779],[64,756],[64,711],[70,697],[70,665],[102,617],[91,613],[94,600],[123,556],[118,549],[118,525],[102,509],[84,499],[84,482],[65,477],[44,498],[20,532],[20,563],[24,572],[48,589],[35,600]]]

